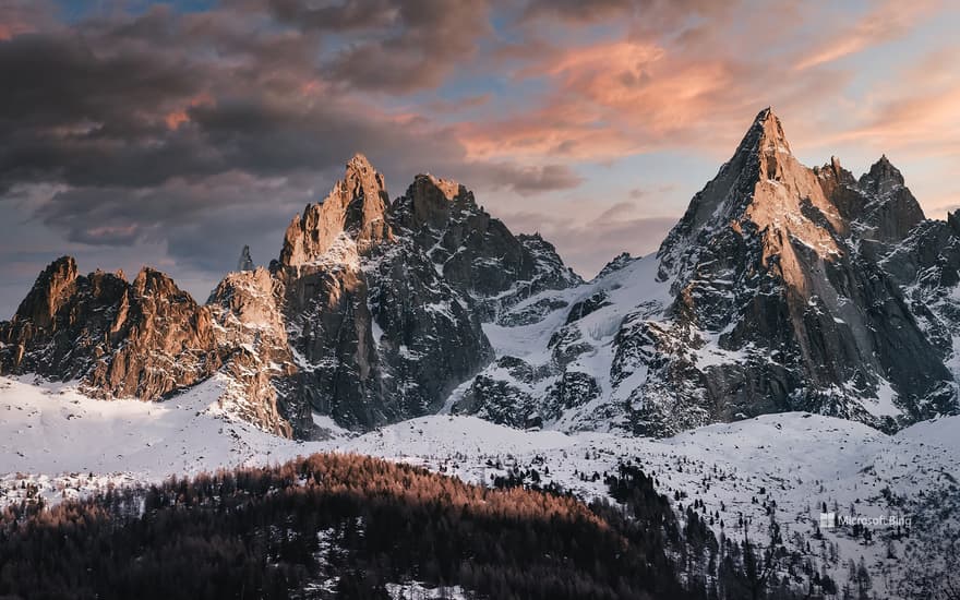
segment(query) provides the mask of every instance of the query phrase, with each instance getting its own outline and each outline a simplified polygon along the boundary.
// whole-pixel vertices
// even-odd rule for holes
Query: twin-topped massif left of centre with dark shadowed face
[[[312,415],[365,429],[435,412],[493,359],[481,322],[579,281],[537,238],[514,237],[463,185],[418,176],[388,205],[358,156],[287,231],[273,267],[296,373],[277,383],[300,434]]]

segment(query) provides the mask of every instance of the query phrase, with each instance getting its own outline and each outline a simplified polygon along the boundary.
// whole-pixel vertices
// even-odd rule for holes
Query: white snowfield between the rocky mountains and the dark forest
[[[653,440],[520,431],[440,415],[359,436],[339,431],[327,441],[293,442],[231,419],[216,401],[221,385],[214,379],[165,403],[104,401],[72,385],[0,377],[0,505],[21,501],[26,483],[57,502],[109,484],[316,452],[380,456],[478,483],[512,467],[532,468],[541,481],[591,500],[607,494],[604,472],[632,460],[656,477],[675,508],[701,501],[718,537],[740,540],[747,532],[763,542],[773,513],[787,545],[815,556],[836,580],[845,580],[849,561],[863,559],[881,597],[895,595],[909,568],[935,567],[937,543],[960,523],[960,417],[886,435],[791,412]],[[845,529],[817,538],[825,504],[841,515],[908,517],[910,536],[897,539],[896,528],[881,527],[868,543]]]

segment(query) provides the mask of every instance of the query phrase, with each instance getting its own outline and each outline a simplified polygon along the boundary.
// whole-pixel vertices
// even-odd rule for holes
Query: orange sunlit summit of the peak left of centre
[[[362,252],[389,239],[386,219],[389,196],[383,175],[365,156],[347,163],[346,175],[323,202],[310,204],[293,217],[284,237],[280,264],[299,266],[315,261],[345,235]]]

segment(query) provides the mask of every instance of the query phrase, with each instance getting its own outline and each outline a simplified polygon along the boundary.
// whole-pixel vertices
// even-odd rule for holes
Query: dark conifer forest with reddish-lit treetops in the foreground
[[[720,551],[638,467],[608,476],[612,503],[497,483],[319,454],[24,502],[0,515],[0,597],[379,599],[411,580],[497,600],[773,597],[748,549]]]

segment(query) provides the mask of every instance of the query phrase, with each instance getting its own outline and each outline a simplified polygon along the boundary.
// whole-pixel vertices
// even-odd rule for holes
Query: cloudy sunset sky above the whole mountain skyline
[[[590,277],[655,251],[764,107],[960,207],[960,3],[0,0],[0,319],[63,254],[204,301],[365,154]]]

